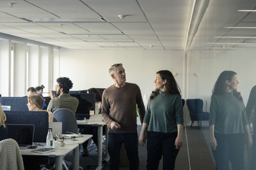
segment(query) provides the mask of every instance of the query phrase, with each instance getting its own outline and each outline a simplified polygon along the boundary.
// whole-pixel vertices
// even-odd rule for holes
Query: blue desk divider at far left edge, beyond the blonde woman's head
[[[0,97],[2,106],[11,106],[11,111],[28,111],[28,97]]]

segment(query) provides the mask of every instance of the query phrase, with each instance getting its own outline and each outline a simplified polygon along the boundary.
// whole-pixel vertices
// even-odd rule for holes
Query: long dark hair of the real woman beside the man
[[[162,80],[166,80],[164,87],[166,89],[166,94],[179,94],[180,96],[180,88],[177,85],[177,82],[171,71],[168,70],[160,70],[157,71],[156,74],[159,74]],[[159,89],[156,89],[152,92],[150,99],[154,99],[159,94]]]

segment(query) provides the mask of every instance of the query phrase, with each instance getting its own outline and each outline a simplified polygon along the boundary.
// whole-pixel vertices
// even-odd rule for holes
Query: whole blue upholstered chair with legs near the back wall
[[[198,121],[198,127],[202,126],[202,120],[209,120],[209,113],[203,111],[203,100],[202,99],[187,99],[191,127],[194,121]]]

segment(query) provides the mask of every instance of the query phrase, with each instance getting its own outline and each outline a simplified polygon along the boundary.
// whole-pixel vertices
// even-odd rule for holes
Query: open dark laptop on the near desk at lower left
[[[27,149],[33,145],[35,125],[30,124],[6,124],[6,128],[0,132],[4,139],[12,138],[17,141],[20,149]],[[3,133],[3,134],[1,134]]]

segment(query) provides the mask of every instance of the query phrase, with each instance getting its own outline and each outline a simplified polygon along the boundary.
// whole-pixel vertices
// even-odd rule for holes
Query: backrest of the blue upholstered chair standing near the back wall
[[[189,109],[189,113],[197,114],[203,112],[203,100],[202,99],[187,99],[186,101]]]

